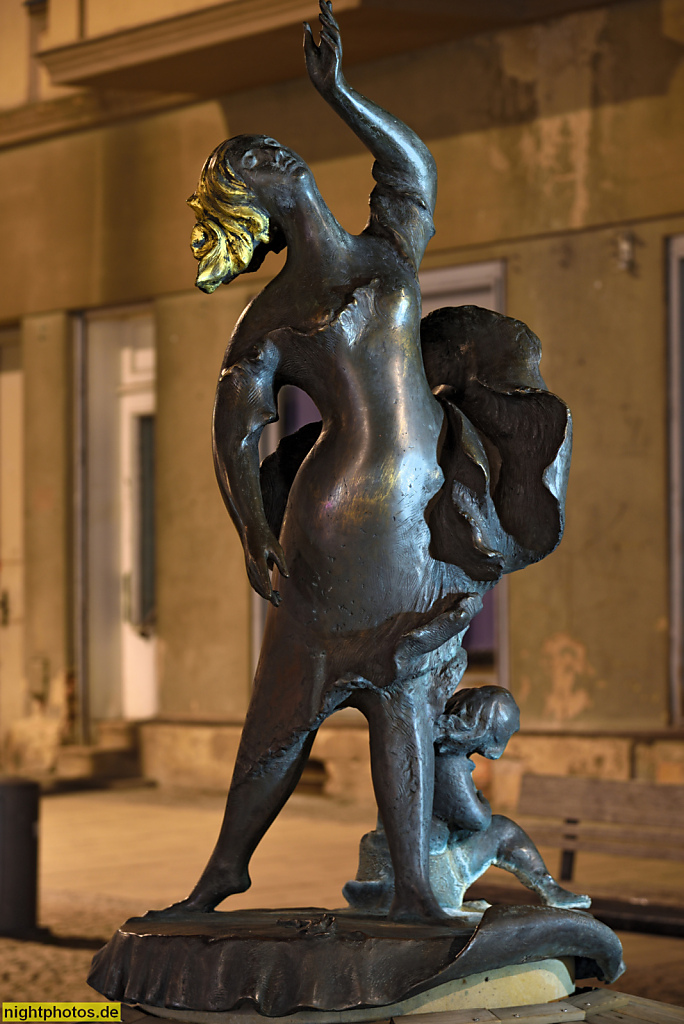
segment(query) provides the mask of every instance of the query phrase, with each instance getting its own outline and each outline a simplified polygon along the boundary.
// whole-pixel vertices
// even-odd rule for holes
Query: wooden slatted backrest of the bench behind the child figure
[[[518,814],[681,828],[684,785],[572,775],[524,775]]]

